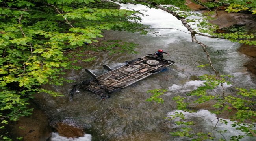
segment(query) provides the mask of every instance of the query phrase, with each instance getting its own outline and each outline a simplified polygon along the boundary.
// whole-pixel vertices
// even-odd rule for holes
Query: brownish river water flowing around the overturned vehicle
[[[118,53],[113,56],[102,54],[96,63],[81,64],[84,68],[79,71],[70,71],[66,78],[81,82],[91,78],[84,69],[90,69],[96,75],[103,74],[106,70],[102,65],[106,64],[112,68],[121,66],[125,61],[130,61],[146,54],[163,49],[169,55],[165,59],[176,63],[164,72],[152,75],[137,85],[123,89],[106,100],[98,99],[93,92],[79,89],[74,94],[73,101],[69,101],[69,91],[72,84],[49,89],[61,92],[66,97],[53,98],[48,95],[38,95],[35,101],[49,116],[52,123],[61,121],[85,129],[85,137],[67,139],[54,133],[52,141],[171,141],[186,140],[186,138],[173,137],[169,132],[179,129],[164,119],[176,110],[174,96],[185,96],[186,92],[196,89],[203,81],[196,80],[196,76],[213,74],[210,68],[199,68],[198,65],[208,64],[206,55],[202,48],[191,42],[190,34],[184,33],[186,28],[171,14],[161,10],[149,9],[141,5],[122,5],[122,8],[132,8],[149,16],[143,17],[143,24],[152,28],[175,28],[175,29],[153,29],[157,35],[150,33],[140,35],[138,33],[127,33],[119,31],[107,31],[104,37],[110,40],[123,40],[139,44],[135,49],[138,54]],[[180,31],[182,30],[182,31]],[[237,51],[240,44],[228,40],[212,39],[197,36],[200,42],[208,45],[216,69],[221,74],[234,75],[230,81],[235,87],[256,88],[255,75],[246,71],[243,66],[252,58]],[[229,88],[230,85],[224,85]],[[156,104],[146,102],[150,97],[146,93],[151,89],[168,89],[163,95],[164,103]],[[200,110],[197,114],[187,115],[197,124],[195,130],[209,130],[213,127],[211,120],[216,118],[207,110]],[[192,118],[193,117],[193,118]],[[207,119],[207,120],[206,120]],[[208,122],[207,122],[208,121]],[[215,124],[215,123],[213,123]],[[231,130],[230,127],[218,123],[217,128]],[[230,132],[233,132],[230,131]],[[238,132],[238,131],[234,131]],[[238,132],[239,133],[239,132]],[[216,133],[216,136],[219,137]],[[230,135],[226,135],[228,137]]]

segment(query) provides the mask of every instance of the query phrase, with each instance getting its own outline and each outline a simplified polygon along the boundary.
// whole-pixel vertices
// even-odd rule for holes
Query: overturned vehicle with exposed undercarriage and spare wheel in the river
[[[174,63],[174,61],[148,54],[129,61],[126,65],[122,65],[117,69],[111,69],[107,65],[103,65],[109,72],[100,76],[96,76],[93,72],[85,69],[93,78],[74,85],[70,95],[72,98],[74,92],[76,92],[76,87],[80,86],[95,92],[102,99],[109,98],[110,94],[137,83],[152,74],[156,74]]]

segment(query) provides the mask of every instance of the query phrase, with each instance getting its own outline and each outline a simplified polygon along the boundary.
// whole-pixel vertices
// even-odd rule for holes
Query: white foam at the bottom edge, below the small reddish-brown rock
[[[83,137],[67,138],[59,136],[58,133],[52,133],[51,141],[91,141],[91,134],[84,134]]]

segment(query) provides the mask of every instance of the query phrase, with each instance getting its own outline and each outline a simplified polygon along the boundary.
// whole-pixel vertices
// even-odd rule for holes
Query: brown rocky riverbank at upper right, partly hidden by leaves
[[[213,2],[213,0],[201,0],[201,2]],[[195,4],[191,2],[191,0],[186,0],[186,5],[195,11],[206,10],[206,7]],[[215,19],[210,21],[212,24],[218,25],[220,31],[225,32],[225,30],[223,30],[224,28],[238,25],[245,27],[245,29],[251,33],[256,33],[256,14],[228,13],[225,9],[225,6],[213,9],[215,10],[215,14],[212,17]],[[248,71],[256,74],[256,46],[242,44],[238,51],[252,57],[252,60],[245,63],[244,66],[247,67]]]

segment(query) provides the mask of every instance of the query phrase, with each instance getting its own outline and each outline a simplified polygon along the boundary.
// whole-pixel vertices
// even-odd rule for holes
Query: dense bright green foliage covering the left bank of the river
[[[33,109],[26,105],[33,94],[63,96],[40,86],[70,82],[61,77],[65,74],[63,69],[79,67],[73,66],[76,60],[65,55],[65,51],[86,48],[85,42],[98,42],[96,39],[103,37],[104,30],[147,33],[137,23],[138,12],[117,8],[114,3],[100,0],[0,0],[2,129],[8,121],[31,113]],[[116,49],[124,52],[133,48],[134,45],[130,47],[127,43]],[[83,62],[95,59],[95,56],[86,57]]]

